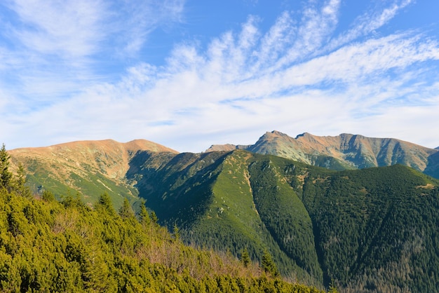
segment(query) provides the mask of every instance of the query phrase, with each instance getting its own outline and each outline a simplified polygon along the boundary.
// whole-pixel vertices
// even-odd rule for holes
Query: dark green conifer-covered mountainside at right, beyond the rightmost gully
[[[437,291],[439,189],[431,182],[402,165],[309,177],[303,200],[327,278],[348,292]]]

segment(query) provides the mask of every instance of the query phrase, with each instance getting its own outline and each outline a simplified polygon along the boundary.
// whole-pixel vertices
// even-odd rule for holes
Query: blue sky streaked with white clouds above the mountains
[[[439,147],[439,1],[2,0],[0,143]]]

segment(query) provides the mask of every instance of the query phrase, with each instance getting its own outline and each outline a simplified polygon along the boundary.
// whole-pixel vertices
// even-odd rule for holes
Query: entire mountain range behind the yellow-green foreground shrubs
[[[116,207],[146,200],[187,244],[255,261],[268,251],[284,278],[343,292],[439,289],[438,153],[276,131],[200,154],[144,140],[10,151],[36,193],[76,193],[90,206],[102,193]]]

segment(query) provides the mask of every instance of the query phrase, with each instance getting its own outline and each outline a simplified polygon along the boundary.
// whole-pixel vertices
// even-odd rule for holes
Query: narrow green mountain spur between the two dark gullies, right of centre
[[[314,249],[311,218],[296,191],[283,180],[286,170],[295,172],[295,165],[288,163],[274,156],[259,157],[251,163],[253,198],[262,222],[281,250],[321,282],[323,273]]]

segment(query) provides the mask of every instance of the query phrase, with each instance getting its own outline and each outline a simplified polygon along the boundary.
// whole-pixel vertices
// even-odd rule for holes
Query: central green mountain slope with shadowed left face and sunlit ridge
[[[259,261],[269,250],[283,275],[322,283],[311,219],[299,198],[293,198],[291,186],[277,179],[277,169],[260,171],[266,168],[265,156],[248,151],[169,154],[161,165],[156,156],[161,155],[144,156],[136,187],[162,224],[170,229],[177,224],[182,238],[200,247],[236,255],[247,249]],[[273,182],[266,184],[278,191],[281,205],[276,207],[255,184],[269,179]],[[276,220],[272,212],[278,214]],[[278,231],[278,221],[285,231]]]

